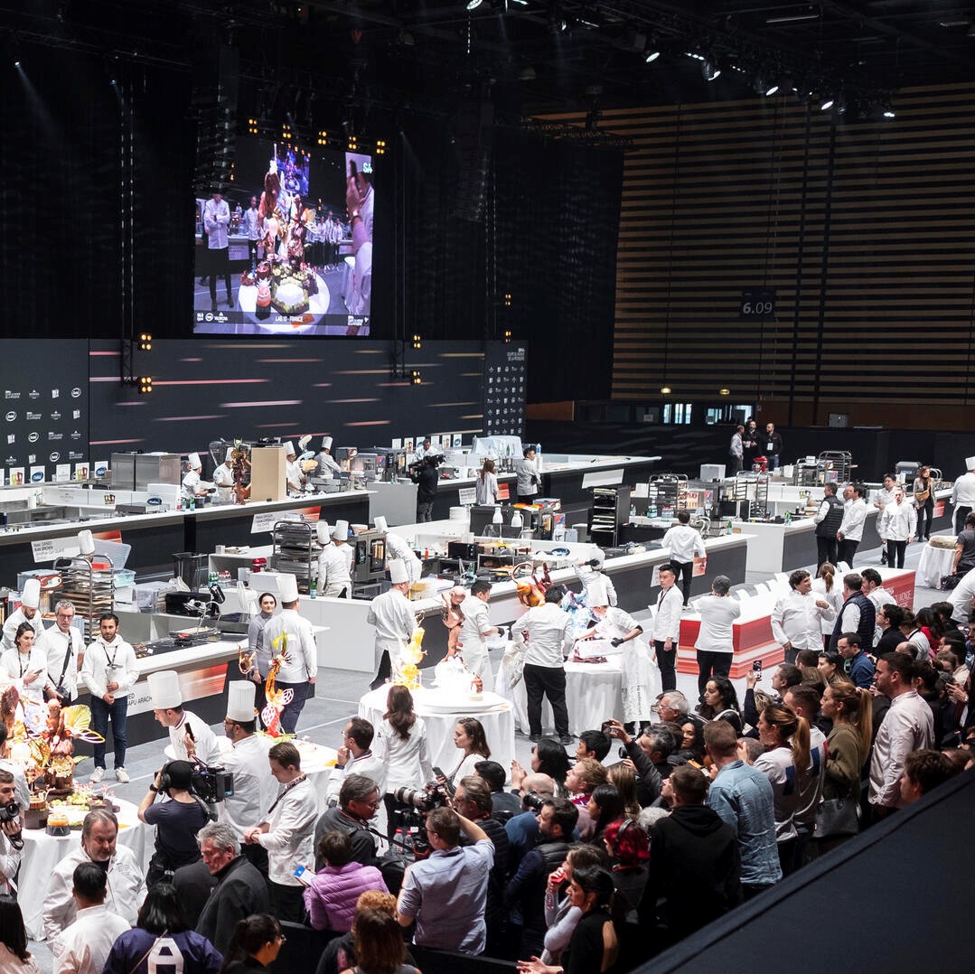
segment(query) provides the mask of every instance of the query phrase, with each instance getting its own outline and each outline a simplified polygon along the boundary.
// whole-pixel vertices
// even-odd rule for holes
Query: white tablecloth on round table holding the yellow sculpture
[[[429,679],[433,679],[432,673]],[[388,685],[370,690],[359,701],[359,716],[377,727],[386,713],[388,695]],[[490,759],[496,760],[506,772],[510,772],[515,757],[515,711],[509,701],[496,693],[486,692],[484,700],[476,705],[465,706],[458,701],[455,709],[443,710],[429,706],[430,698],[424,700],[424,696],[422,689],[413,693],[413,706],[426,724],[430,762],[435,767],[440,767],[447,774],[452,773],[462,757],[453,744],[453,728],[462,717],[476,717],[484,725]]]

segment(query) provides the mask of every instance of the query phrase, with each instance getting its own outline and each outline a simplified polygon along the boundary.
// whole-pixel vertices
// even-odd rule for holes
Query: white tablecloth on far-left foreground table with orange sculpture
[[[119,806],[119,845],[126,845],[136,853],[142,872],[149,867],[154,846],[153,831],[138,820],[137,805],[115,799]],[[55,867],[81,841],[81,829],[72,829],[70,836],[49,836],[43,829],[24,829],[23,851],[20,853],[20,889],[18,902],[23,925],[31,940],[44,939],[44,897],[48,879]]]

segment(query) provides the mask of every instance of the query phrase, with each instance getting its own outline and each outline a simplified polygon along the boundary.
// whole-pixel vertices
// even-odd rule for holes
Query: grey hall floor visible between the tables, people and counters
[[[917,567],[921,550],[921,545],[918,544],[912,544],[908,547],[905,567]],[[872,565],[878,566],[880,564],[880,549],[858,552],[855,562],[855,568]],[[746,585],[756,585],[769,577],[762,573],[750,572]],[[944,594],[940,591],[918,586],[915,593],[915,608],[917,609],[922,605],[939,602],[943,599]],[[638,621],[641,620],[642,615],[645,617],[648,614],[648,612],[635,613]],[[500,656],[500,650],[492,652],[492,665],[495,672],[500,663]],[[432,677],[432,672],[427,672]],[[770,677],[771,673],[766,674],[766,680],[770,679]],[[359,698],[368,691],[369,682],[370,676],[362,673],[351,673],[342,670],[320,670],[318,677],[319,691],[314,699],[309,700],[305,704],[301,719],[298,722],[298,736],[307,736],[318,743],[337,748],[341,743],[342,727],[350,717],[356,714]],[[738,680],[735,683],[739,698],[743,698],[745,681]],[[767,682],[765,682],[765,685],[767,685]],[[683,690],[688,699],[695,700],[697,698],[695,676],[679,673],[678,688]],[[605,715],[606,718],[613,716],[618,717],[619,715]],[[222,734],[222,724],[214,725],[214,730],[215,733]],[[160,728],[160,734],[163,735],[164,733],[163,729]],[[119,785],[114,781],[111,770],[111,755],[108,756],[108,770],[105,775],[105,782],[109,784],[116,796],[136,803],[143,798],[156,770],[166,760],[163,756],[164,743],[166,741],[161,739],[158,742],[142,744],[129,750],[126,768],[132,777],[132,781],[128,785]],[[570,747],[569,750],[571,751],[573,749]],[[528,741],[526,735],[521,733],[516,735],[515,754],[517,760],[527,767],[531,757],[531,743]],[[78,780],[86,781],[91,774],[92,766],[92,760],[90,759],[80,763],[76,771]],[[30,951],[32,959],[42,971],[42,974],[52,974],[52,957],[47,944],[43,942],[32,942],[30,944]]]

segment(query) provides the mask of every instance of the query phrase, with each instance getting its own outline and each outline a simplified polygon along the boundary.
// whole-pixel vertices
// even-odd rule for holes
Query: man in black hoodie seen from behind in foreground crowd
[[[655,953],[723,916],[741,902],[741,858],[731,826],[704,804],[709,779],[684,764],[664,783],[673,811],[653,826],[649,877],[640,920],[657,924]],[[663,900],[657,906],[659,900]]]

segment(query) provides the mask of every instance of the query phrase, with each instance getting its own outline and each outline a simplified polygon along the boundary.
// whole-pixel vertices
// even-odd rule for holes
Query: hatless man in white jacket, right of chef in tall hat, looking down
[[[244,840],[267,849],[271,912],[278,919],[300,923],[304,916],[304,886],[294,871],[299,866],[312,869],[315,865],[318,795],[301,773],[301,756],[291,741],[273,745],[267,759],[271,774],[284,787],[263,821],[245,832]]]

